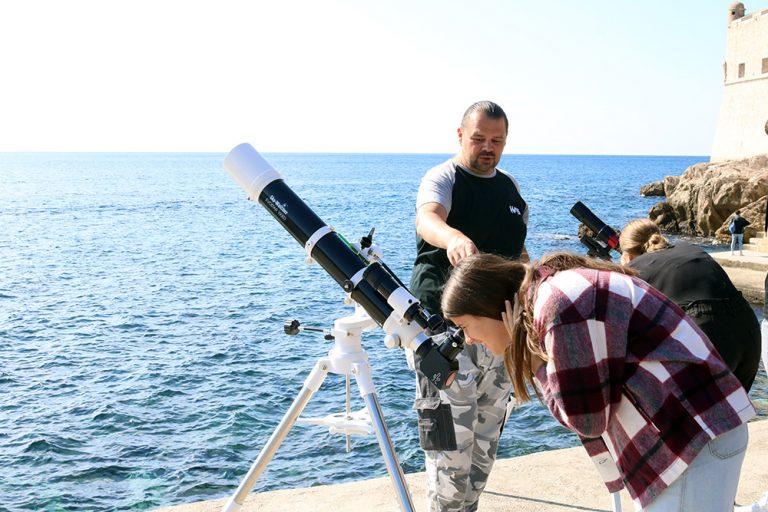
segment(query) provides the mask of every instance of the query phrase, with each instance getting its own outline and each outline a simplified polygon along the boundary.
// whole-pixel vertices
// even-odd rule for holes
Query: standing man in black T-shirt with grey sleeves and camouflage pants
[[[430,312],[439,312],[447,273],[462,258],[481,251],[528,260],[528,207],[514,178],[496,168],[508,129],[500,106],[473,104],[458,129],[460,153],[421,181],[411,292]],[[509,402],[503,357],[475,344],[465,346],[458,361],[458,376],[445,391],[416,372],[431,512],[477,510]]]

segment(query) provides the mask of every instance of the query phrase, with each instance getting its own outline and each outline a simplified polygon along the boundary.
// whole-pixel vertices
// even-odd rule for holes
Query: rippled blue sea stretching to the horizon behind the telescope
[[[0,509],[143,510],[234,492],[318,357],[283,321],[330,327],[351,310],[299,245],[222,168],[223,154],[0,154]],[[403,279],[414,200],[448,155],[267,155],[351,240],[376,228]],[[706,157],[506,156],[530,204],[533,257],[582,252],[569,209],[614,226],[656,201],[640,185]],[[412,375],[381,331],[374,382],[406,472],[423,466]],[[761,370],[752,395],[766,412]],[[362,407],[353,389],[354,408]],[[308,414],[341,412],[331,376]],[[575,446],[537,404],[510,418],[501,457]],[[374,437],[297,426],[255,491],[384,476]]]

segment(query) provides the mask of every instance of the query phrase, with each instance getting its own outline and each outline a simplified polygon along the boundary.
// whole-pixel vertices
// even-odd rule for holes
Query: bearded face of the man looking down
[[[477,173],[491,174],[507,143],[504,119],[489,119],[485,114],[475,112],[458,133],[461,163]]]

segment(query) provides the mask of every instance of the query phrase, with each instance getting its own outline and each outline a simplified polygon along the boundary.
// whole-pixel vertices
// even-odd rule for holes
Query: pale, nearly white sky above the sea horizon
[[[708,155],[730,3],[4,2],[0,151]]]

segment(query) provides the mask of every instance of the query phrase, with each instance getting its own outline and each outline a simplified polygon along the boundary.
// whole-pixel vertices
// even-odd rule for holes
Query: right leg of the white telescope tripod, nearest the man
[[[392,484],[395,486],[400,509],[403,512],[413,512],[411,493],[408,490],[408,485],[405,483],[403,468],[400,467],[400,462],[397,460],[397,453],[395,453],[392,438],[389,436],[387,424],[384,423],[381,405],[379,405],[379,399],[373,387],[371,367],[368,364],[356,364],[353,366],[352,373],[355,375],[357,386],[360,388],[360,394],[365,401],[365,406],[368,408],[368,413],[371,415],[373,430],[376,432],[376,438],[379,440],[379,448],[381,448],[381,454],[384,456],[387,472],[392,479]]]

